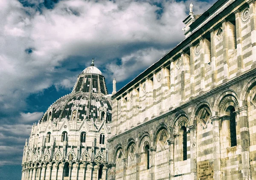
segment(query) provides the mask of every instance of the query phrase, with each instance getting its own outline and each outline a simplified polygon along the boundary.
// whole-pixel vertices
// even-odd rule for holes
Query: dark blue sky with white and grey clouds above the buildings
[[[95,66],[108,92],[134,79],[185,36],[189,4],[216,0],[0,0],[0,180],[20,180],[33,123]]]

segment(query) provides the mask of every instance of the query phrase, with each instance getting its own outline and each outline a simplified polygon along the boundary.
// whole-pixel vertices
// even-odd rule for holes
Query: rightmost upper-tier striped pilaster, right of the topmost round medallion
[[[247,0],[250,7],[250,28],[251,28],[251,43],[252,43],[252,68],[256,68],[256,7],[254,0]]]

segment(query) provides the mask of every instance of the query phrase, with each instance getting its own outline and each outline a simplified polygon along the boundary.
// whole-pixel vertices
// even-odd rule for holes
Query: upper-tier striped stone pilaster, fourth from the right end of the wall
[[[211,29],[210,33],[211,33],[211,66],[212,66],[211,89],[214,89],[217,86],[215,29]]]

